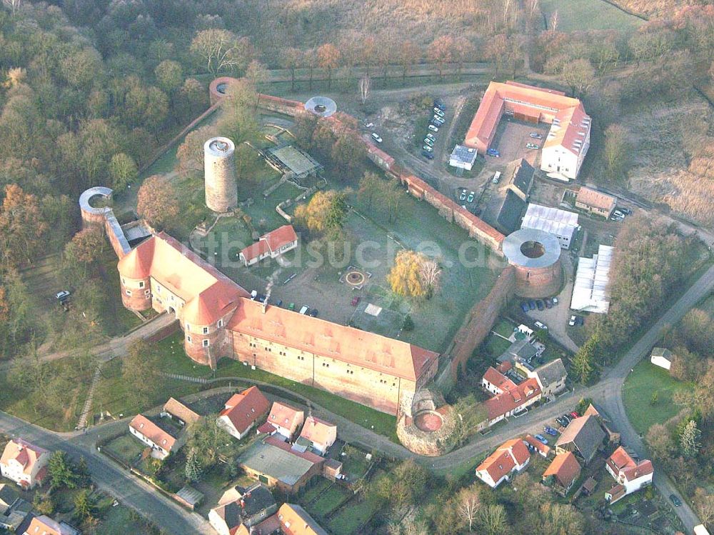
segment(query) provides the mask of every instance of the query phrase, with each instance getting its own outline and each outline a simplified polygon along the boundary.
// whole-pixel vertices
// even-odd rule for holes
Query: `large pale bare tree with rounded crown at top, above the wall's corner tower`
[[[203,68],[213,76],[223,71],[241,71],[253,56],[253,47],[248,39],[221,29],[197,31],[190,50],[203,61]]]

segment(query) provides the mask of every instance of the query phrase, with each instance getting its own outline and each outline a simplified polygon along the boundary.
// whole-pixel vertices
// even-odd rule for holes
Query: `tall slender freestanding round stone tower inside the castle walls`
[[[227,137],[213,137],[203,144],[206,206],[222,214],[238,204],[236,146]]]

